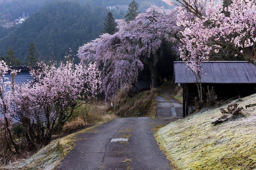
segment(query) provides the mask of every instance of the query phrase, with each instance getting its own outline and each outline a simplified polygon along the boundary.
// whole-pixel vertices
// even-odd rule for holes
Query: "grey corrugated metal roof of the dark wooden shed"
[[[256,67],[247,61],[203,62],[202,83],[256,83]],[[175,83],[194,83],[185,62],[174,62]]]

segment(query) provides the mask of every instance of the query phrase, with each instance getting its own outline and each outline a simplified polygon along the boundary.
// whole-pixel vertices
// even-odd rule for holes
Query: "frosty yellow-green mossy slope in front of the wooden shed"
[[[160,129],[156,139],[178,169],[256,170],[256,107],[245,109],[252,103],[256,94],[238,105],[244,107],[245,117],[219,125],[211,122],[222,115],[220,107],[203,109]]]

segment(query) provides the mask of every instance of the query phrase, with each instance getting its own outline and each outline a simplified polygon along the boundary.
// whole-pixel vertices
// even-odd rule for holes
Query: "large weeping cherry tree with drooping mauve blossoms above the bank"
[[[106,100],[120,88],[134,85],[144,65],[151,72],[152,88],[156,88],[156,64],[163,54],[162,40],[176,42],[173,37],[179,31],[175,20],[175,11],[152,6],[130,22],[116,20],[119,31],[114,35],[102,34],[79,48],[78,57],[82,61],[93,61],[101,68]]]

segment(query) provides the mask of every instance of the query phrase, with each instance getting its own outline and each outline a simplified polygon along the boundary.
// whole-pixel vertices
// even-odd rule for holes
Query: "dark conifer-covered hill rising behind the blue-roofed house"
[[[105,6],[93,9],[91,4],[81,5],[75,0],[47,3],[16,30],[7,34],[5,28],[0,28],[0,37],[7,34],[0,39],[0,53],[5,55],[11,45],[24,64],[29,43],[33,41],[36,51],[46,59],[54,54],[55,60],[60,61],[69,48],[76,55],[78,47],[99,37],[108,11]],[[117,11],[112,12],[114,17],[124,18]]]

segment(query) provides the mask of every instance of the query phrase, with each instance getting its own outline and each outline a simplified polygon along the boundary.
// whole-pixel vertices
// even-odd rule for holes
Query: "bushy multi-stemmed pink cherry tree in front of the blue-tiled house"
[[[16,109],[22,112],[20,119],[31,147],[49,144],[58,127],[97,93],[100,84],[95,64],[74,65],[68,60],[59,66],[56,62],[41,62],[39,67],[30,71],[35,82],[17,86],[16,94]]]

